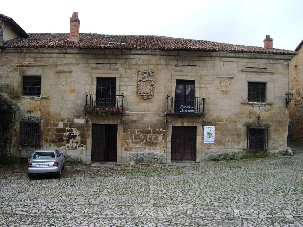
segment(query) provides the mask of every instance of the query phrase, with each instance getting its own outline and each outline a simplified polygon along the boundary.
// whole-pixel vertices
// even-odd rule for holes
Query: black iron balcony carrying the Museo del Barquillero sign
[[[167,115],[205,115],[205,98],[192,97],[189,100],[180,97],[166,97]]]

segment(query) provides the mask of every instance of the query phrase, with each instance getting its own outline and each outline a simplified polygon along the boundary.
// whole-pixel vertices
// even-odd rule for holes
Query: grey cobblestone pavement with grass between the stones
[[[301,227],[303,145],[291,147],[294,156],[70,166],[61,179],[29,180],[24,167],[10,167],[17,176],[2,166],[0,226]]]

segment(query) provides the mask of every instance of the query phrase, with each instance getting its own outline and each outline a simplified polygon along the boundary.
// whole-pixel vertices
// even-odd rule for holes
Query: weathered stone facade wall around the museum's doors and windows
[[[92,123],[118,124],[117,162],[169,163],[172,126],[197,126],[197,161],[242,157],[246,125],[255,124],[258,114],[260,124],[269,126],[270,152],[286,148],[287,56],[7,49],[0,59],[4,62],[0,69],[3,95],[19,104],[23,116],[28,116],[31,108],[32,116],[42,120],[41,147],[56,147],[70,160],[90,162]],[[154,93],[147,99],[138,95],[138,70],[144,69],[154,71]],[[22,77],[26,75],[41,76],[41,97],[22,96]],[[124,93],[124,124],[115,114],[107,118],[87,113],[85,120],[85,92],[96,94],[97,77],[116,78],[116,94]],[[205,97],[205,125],[215,126],[214,144],[203,143],[203,117],[166,118],[166,94],[175,96],[177,79],[195,80],[195,97]],[[247,102],[248,81],[266,83],[265,103]],[[16,123],[16,138],[18,133]],[[32,152],[26,146],[18,145],[17,149],[20,156]]]

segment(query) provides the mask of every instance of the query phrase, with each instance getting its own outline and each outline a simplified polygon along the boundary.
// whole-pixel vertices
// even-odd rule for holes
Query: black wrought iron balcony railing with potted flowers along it
[[[85,111],[102,110],[110,113],[123,113],[124,95],[87,94],[85,92]]]

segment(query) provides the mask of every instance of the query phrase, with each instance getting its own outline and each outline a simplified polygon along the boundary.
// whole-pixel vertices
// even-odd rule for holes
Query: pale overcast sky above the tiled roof
[[[68,33],[78,12],[80,33],[160,35],[294,50],[303,39],[303,0],[1,1],[0,14],[27,33]]]

